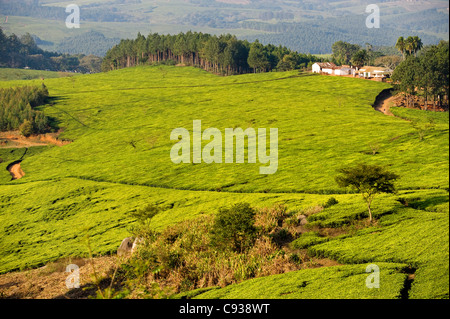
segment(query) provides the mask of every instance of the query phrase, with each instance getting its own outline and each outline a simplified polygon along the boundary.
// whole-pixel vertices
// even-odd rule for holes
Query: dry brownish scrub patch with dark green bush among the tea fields
[[[160,210],[147,206],[142,211]],[[308,267],[314,264],[311,258],[283,248],[286,236],[298,235],[294,221],[302,213],[282,205],[256,209],[237,203],[220,207],[216,216],[204,215],[158,232],[151,230],[146,214],[134,214],[142,218],[133,233],[140,245],[120,265],[119,281],[135,293],[150,292],[154,283],[179,293]]]

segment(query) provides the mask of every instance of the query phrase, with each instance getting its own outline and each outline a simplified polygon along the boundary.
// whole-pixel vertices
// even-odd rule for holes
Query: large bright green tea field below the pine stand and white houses
[[[448,185],[448,114],[419,143],[408,121],[371,109],[385,84],[316,76],[273,81],[294,74],[217,78],[189,68],[136,68],[49,79],[56,103],[45,113],[76,142],[24,161],[30,174],[21,182],[72,176],[177,189],[333,193],[336,169],[364,161],[390,166],[402,176],[401,189]],[[195,119],[222,132],[279,128],[277,173],[259,174],[259,163],[174,165],[170,132],[192,131]],[[380,146],[376,156],[369,154],[372,143]],[[41,169],[44,160],[52,170]]]

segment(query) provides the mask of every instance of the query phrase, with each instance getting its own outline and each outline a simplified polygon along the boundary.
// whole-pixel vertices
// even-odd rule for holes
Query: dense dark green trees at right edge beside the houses
[[[405,59],[395,68],[392,80],[396,88],[406,95],[407,106],[413,107],[419,98],[425,110],[430,103],[433,110],[436,106],[448,110],[449,42],[441,41],[421,52],[408,50],[401,41],[397,46],[405,54]]]

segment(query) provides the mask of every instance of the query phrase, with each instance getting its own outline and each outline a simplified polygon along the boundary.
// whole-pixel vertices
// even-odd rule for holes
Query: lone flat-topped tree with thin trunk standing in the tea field
[[[370,205],[376,194],[395,193],[394,181],[397,174],[388,172],[382,166],[358,164],[338,170],[336,183],[341,187],[352,187],[362,194],[369,210],[369,221],[372,222]]]

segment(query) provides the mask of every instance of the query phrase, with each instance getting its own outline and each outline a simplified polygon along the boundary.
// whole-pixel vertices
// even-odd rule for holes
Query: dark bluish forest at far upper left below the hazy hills
[[[39,48],[29,33],[20,38],[14,33],[7,36],[0,28],[0,67],[86,73],[100,71],[100,61],[93,55],[48,52]]]

